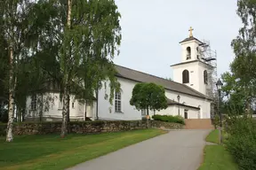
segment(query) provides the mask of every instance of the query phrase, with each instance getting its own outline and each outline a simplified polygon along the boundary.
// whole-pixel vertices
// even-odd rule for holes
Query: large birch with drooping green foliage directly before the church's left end
[[[36,58],[60,88],[65,136],[71,94],[92,101],[108,82],[109,101],[114,97],[118,83],[112,60],[121,42],[120,13],[114,0],[52,0],[46,9],[51,18],[44,24]]]

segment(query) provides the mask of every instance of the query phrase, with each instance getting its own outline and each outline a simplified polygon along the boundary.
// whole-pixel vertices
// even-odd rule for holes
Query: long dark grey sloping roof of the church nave
[[[142,73],[136,70],[132,70],[131,68],[127,68],[124,66],[116,65],[116,76],[124,79],[137,81],[137,82],[154,82],[164,87],[164,89],[169,89],[175,92],[187,94],[193,97],[207,98],[204,94],[196,91],[195,89],[189,88],[185,84],[181,84],[175,81],[169,81],[164,78],[157,77],[155,75],[151,75],[148,73]]]

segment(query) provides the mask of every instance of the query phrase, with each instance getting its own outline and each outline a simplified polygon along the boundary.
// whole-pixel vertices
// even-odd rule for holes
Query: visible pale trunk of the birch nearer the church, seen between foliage
[[[67,16],[67,27],[71,27],[71,10],[72,10],[72,0],[68,0],[68,16]],[[68,55],[67,55],[68,56]],[[67,62],[67,58],[65,58]],[[69,89],[68,89],[68,72],[64,75],[64,93],[63,93],[63,110],[62,110],[62,126],[60,137],[65,137],[68,135],[68,117],[69,117]]]

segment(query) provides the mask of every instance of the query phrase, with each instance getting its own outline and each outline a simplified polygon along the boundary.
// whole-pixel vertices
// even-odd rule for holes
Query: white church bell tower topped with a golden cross
[[[193,29],[190,27],[188,38],[180,42],[181,45],[181,62],[172,65],[173,81],[183,83],[200,93],[209,96],[209,73],[212,66],[208,61],[211,58],[204,56],[204,42],[201,42],[193,36]]]

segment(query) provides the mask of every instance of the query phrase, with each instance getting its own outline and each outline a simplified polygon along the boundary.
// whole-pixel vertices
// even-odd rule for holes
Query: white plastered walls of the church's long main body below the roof
[[[113,99],[113,104],[110,104],[106,100],[105,93],[109,94],[110,89],[100,89],[99,91],[99,104],[98,104],[98,116],[100,120],[140,120],[141,111],[137,111],[134,106],[130,105],[130,99],[132,98],[132,89],[134,88],[136,81],[130,81],[123,78],[118,78],[118,81],[121,84],[121,111],[115,112],[115,98]],[[194,107],[200,106],[201,108],[201,118],[210,118],[210,102],[199,98],[192,97],[186,94],[173,92],[171,90],[165,90],[165,96],[177,101],[177,96],[180,95],[180,103],[185,102],[187,105]],[[39,96],[37,96],[38,98]],[[51,118],[62,118],[62,105],[60,105],[59,93],[48,93],[44,95],[44,101],[52,98],[52,101],[49,102],[49,110],[44,112],[44,117],[48,117],[49,121]],[[73,104],[74,103],[74,104]],[[39,106],[37,104],[36,111],[31,111],[31,97],[28,97],[27,100],[27,111],[30,117],[39,117]],[[74,107],[73,107],[74,106]],[[79,104],[78,101],[74,101],[74,97],[71,97],[70,100],[70,119],[82,119],[84,120],[84,104]],[[198,113],[198,112],[197,112]],[[167,114],[167,115],[178,115],[178,106],[173,105],[169,106],[166,110],[160,112],[156,111],[156,114]],[[154,115],[153,111],[149,111],[149,115]],[[184,108],[180,107],[180,115],[184,116]],[[197,114],[198,115],[198,114]],[[93,102],[92,106],[87,105],[87,117],[91,117],[92,120],[96,118],[96,102]],[[191,108],[188,108],[188,119],[196,119],[196,111]]]

